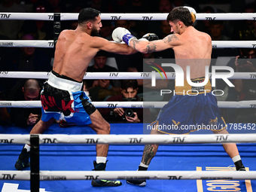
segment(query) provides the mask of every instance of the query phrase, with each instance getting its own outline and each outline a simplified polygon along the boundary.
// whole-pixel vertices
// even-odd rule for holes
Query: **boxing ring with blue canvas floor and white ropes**
[[[2,47],[53,48],[61,20],[77,20],[78,14],[2,13],[2,20],[52,20],[53,41],[0,41]],[[102,20],[166,20],[167,14],[101,14]],[[208,18],[208,19],[207,19]],[[197,20],[254,20],[256,14],[197,14]],[[254,48],[256,41],[212,41],[212,47]],[[151,79],[151,73],[100,73],[104,79]],[[0,78],[47,79],[49,72],[0,72]],[[167,73],[168,77],[173,77]],[[160,79],[160,75],[156,74]],[[87,72],[84,79],[99,78]],[[255,79],[256,73],[236,73],[232,78]],[[166,102],[93,102],[96,108],[161,108]],[[111,105],[109,105],[111,104]],[[254,108],[256,101],[218,102],[220,108]],[[0,107],[41,107],[40,101],[0,101]],[[256,123],[256,122],[255,122]],[[231,129],[230,135],[213,135],[209,130],[186,136],[148,136],[142,123],[111,123],[111,135],[99,136],[87,126],[60,128],[53,124],[43,135],[29,136],[29,128],[0,126],[0,189],[6,191],[256,191],[256,126]],[[240,126],[248,127],[248,123]],[[57,134],[56,134],[57,133]],[[236,133],[236,134],[232,134]],[[237,134],[238,133],[238,134]],[[17,171],[14,163],[24,143],[31,143],[31,169]],[[160,143],[147,172],[136,172],[145,143]],[[224,152],[223,142],[237,142],[247,172],[235,172]],[[93,172],[96,143],[111,144],[106,172]],[[40,148],[40,155],[39,155]],[[40,163],[39,163],[40,162]],[[29,171],[30,169],[30,171]],[[169,171],[170,170],[170,171]],[[92,187],[96,178],[119,179],[120,187]],[[146,187],[126,184],[126,178],[146,178]],[[169,181],[175,180],[175,181]],[[39,190],[40,184],[40,190]]]

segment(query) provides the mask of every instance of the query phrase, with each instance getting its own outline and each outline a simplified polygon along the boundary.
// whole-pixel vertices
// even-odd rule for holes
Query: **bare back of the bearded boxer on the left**
[[[79,30],[65,30],[59,35],[53,63],[53,71],[82,81],[87,66],[97,49],[93,49],[93,38]]]

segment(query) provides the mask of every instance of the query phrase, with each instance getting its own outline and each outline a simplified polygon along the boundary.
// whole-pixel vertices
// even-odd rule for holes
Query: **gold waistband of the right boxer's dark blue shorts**
[[[202,83],[205,81],[205,78],[195,78],[191,79],[193,83]],[[184,80],[184,86],[183,87],[176,87],[175,86],[175,94],[176,95],[198,95],[203,93],[210,93],[212,91],[212,84],[210,81],[207,82],[205,86],[201,87],[193,87],[190,84],[187,83],[186,80]]]

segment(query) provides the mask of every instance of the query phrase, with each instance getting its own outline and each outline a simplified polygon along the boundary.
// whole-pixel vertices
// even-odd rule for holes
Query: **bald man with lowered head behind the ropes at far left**
[[[14,101],[40,100],[41,84],[35,79],[20,81],[11,91]],[[34,126],[40,120],[41,108],[11,108],[11,121],[17,126]]]

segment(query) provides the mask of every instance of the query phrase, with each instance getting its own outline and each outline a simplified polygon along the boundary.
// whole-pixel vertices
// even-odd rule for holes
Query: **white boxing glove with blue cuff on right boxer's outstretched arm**
[[[126,44],[130,45],[130,40],[132,38],[136,38],[133,35],[131,35],[131,32],[123,27],[117,27],[116,29],[114,29],[114,31],[112,32],[112,38],[114,41],[116,41],[117,43],[120,43],[122,41],[124,41]]]

